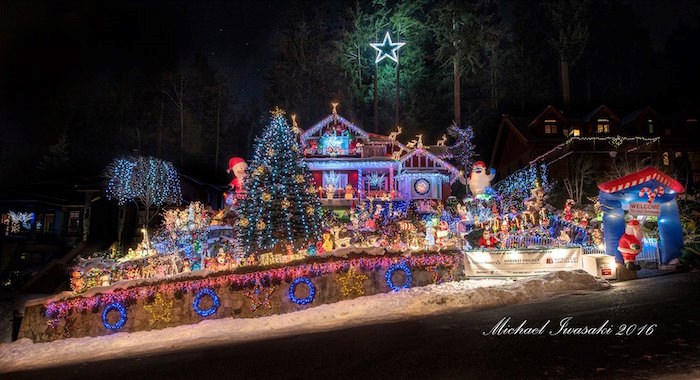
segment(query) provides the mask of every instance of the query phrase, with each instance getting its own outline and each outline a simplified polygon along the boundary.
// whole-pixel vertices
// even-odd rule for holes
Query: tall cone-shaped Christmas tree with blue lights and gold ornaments
[[[317,241],[321,202],[296,136],[276,108],[256,139],[248,165],[247,196],[236,207],[239,247],[247,255],[278,243],[301,246]]]

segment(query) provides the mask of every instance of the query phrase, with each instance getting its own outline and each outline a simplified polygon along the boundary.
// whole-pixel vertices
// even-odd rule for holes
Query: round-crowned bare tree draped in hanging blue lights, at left
[[[144,224],[151,221],[151,208],[180,204],[182,192],[177,170],[170,161],[155,157],[116,158],[107,166],[107,198],[120,206],[133,202],[145,210]],[[156,211],[152,215],[156,215]]]

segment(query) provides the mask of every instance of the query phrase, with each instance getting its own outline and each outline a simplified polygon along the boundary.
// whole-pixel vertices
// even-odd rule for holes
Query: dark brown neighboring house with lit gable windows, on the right
[[[505,178],[531,163],[547,163],[550,174],[563,178],[580,170],[582,159],[599,171],[609,170],[616,158],[625,157],[668,166],[670,172],[687,166],[692,184],[693,177],[700,180],[698,137],[697,118],[669,121],[648,106],[619,117],[601,105],[574,117],[550,105],[534,118],[503,115],[491,166],[499,178]]]

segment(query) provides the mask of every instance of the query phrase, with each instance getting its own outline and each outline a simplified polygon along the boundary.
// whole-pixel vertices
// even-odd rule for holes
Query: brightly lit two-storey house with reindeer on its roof
[[[443,146],[423,145],[421,135],[404,145],[396,138],[400,128],[389,136],[368,133],[338,115],[335,107],[311,128],[298,131],[326,207],[349,207],[368,198],[445,200],[451,184],[464,183],[460,171],[439,157]]]

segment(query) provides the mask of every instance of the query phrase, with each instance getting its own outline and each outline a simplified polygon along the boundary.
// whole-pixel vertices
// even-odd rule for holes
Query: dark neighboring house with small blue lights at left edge
[[[104,199],[100,182],[93,177],[65,178],[0,194],[3,284],[21,284],[82,242],[116,240],[117,208]]]

